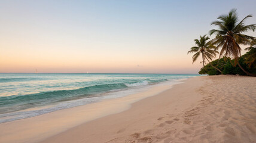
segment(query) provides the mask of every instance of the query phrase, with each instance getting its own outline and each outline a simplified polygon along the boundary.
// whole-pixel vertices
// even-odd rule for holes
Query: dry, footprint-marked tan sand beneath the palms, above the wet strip
[[[255,87],[256,77],[193,77],[42,142],[256,142]]]

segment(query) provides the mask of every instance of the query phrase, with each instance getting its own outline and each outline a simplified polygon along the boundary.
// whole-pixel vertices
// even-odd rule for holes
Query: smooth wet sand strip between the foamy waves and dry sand
[[[56,110],[26,119],[0,123],[0,130],[4,130],[4,132],[0,132],[0,141],[42,141],[43,139],[57,135],[75,126],[90,122],[91,120],[129,110],[133,102],[157,95],[166,89],[172,88],[173,85],[179,84],[180,81],[181,80],[175,80],[151,85],[147,87],[147,90],[144,89],[125,97],[105,99],[99,102]],[[65,119],[65,121],[61,121],[62,119]],[[36,131],[33,131],[35,128]],[[19,138],[17,138],[17,136],[19,136]]]

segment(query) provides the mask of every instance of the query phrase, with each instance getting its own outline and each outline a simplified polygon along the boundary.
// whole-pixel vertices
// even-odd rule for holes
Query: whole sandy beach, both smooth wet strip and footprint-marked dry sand
[[[80,106],[1,123],[0,142],[255,142],[255,86],[255,77],[192,77],[150,89],[144,100],[103,102],[120,106],[108,108],[112,113],[97,113],[92,104],[90,113]],[[122,107],[125,98],[131,107]]]

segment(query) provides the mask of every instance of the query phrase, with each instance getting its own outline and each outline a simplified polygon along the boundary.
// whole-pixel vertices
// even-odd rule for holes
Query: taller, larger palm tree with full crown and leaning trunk
[[[248,30],[254,31],[256,29],[256,24],[245,25],[244,21],[252,17],[252,15],[247,15],[243,20],[238,22],[238,17],[236,10],[231,10],[227,15],[220,15],[217,21],[213,21],[212,24],[218,26],[218,29],[210,30],[210,35],[216,34],[216,37],[212,40],[212,43],[216,46],[216,50],[221,48],[221,57],[234,58],[234,66],[238,64],[240,69],[242,69],[249,76],[254,76],[254,74],[248,73],[242,66],[240,66],[238,60],[241,57],[241,48],[239,44],[248,45],[253,41],[254,37],[244,35],[243,32]]]

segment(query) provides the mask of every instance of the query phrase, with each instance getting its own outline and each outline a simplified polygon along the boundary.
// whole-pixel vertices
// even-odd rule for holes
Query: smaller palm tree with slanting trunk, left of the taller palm
[[[209,60],[212,61],[212,58],[216,57],[216,55],[218,53],[218,51],[214,50],[215,46],[212,45],[211,42],[206,42],[209,39],[210,38],[206,35],[200,36],[200,40],[194,39],[194,42],[196,43],[197,46],[191,47],[190,51],[188,51],[188,54],[196,52],[196,54],[194,54],[192,57],[193,63],[197,60],[199,55],[202,54],[203,68],[205,68],[205,59],[206,59],[209,62],[209,64],[211,64],[211,66],[214,67],[214,69],[216,69],[222,73],[222,71],[220,69],[213,66],[212,63],[209,61]]]

